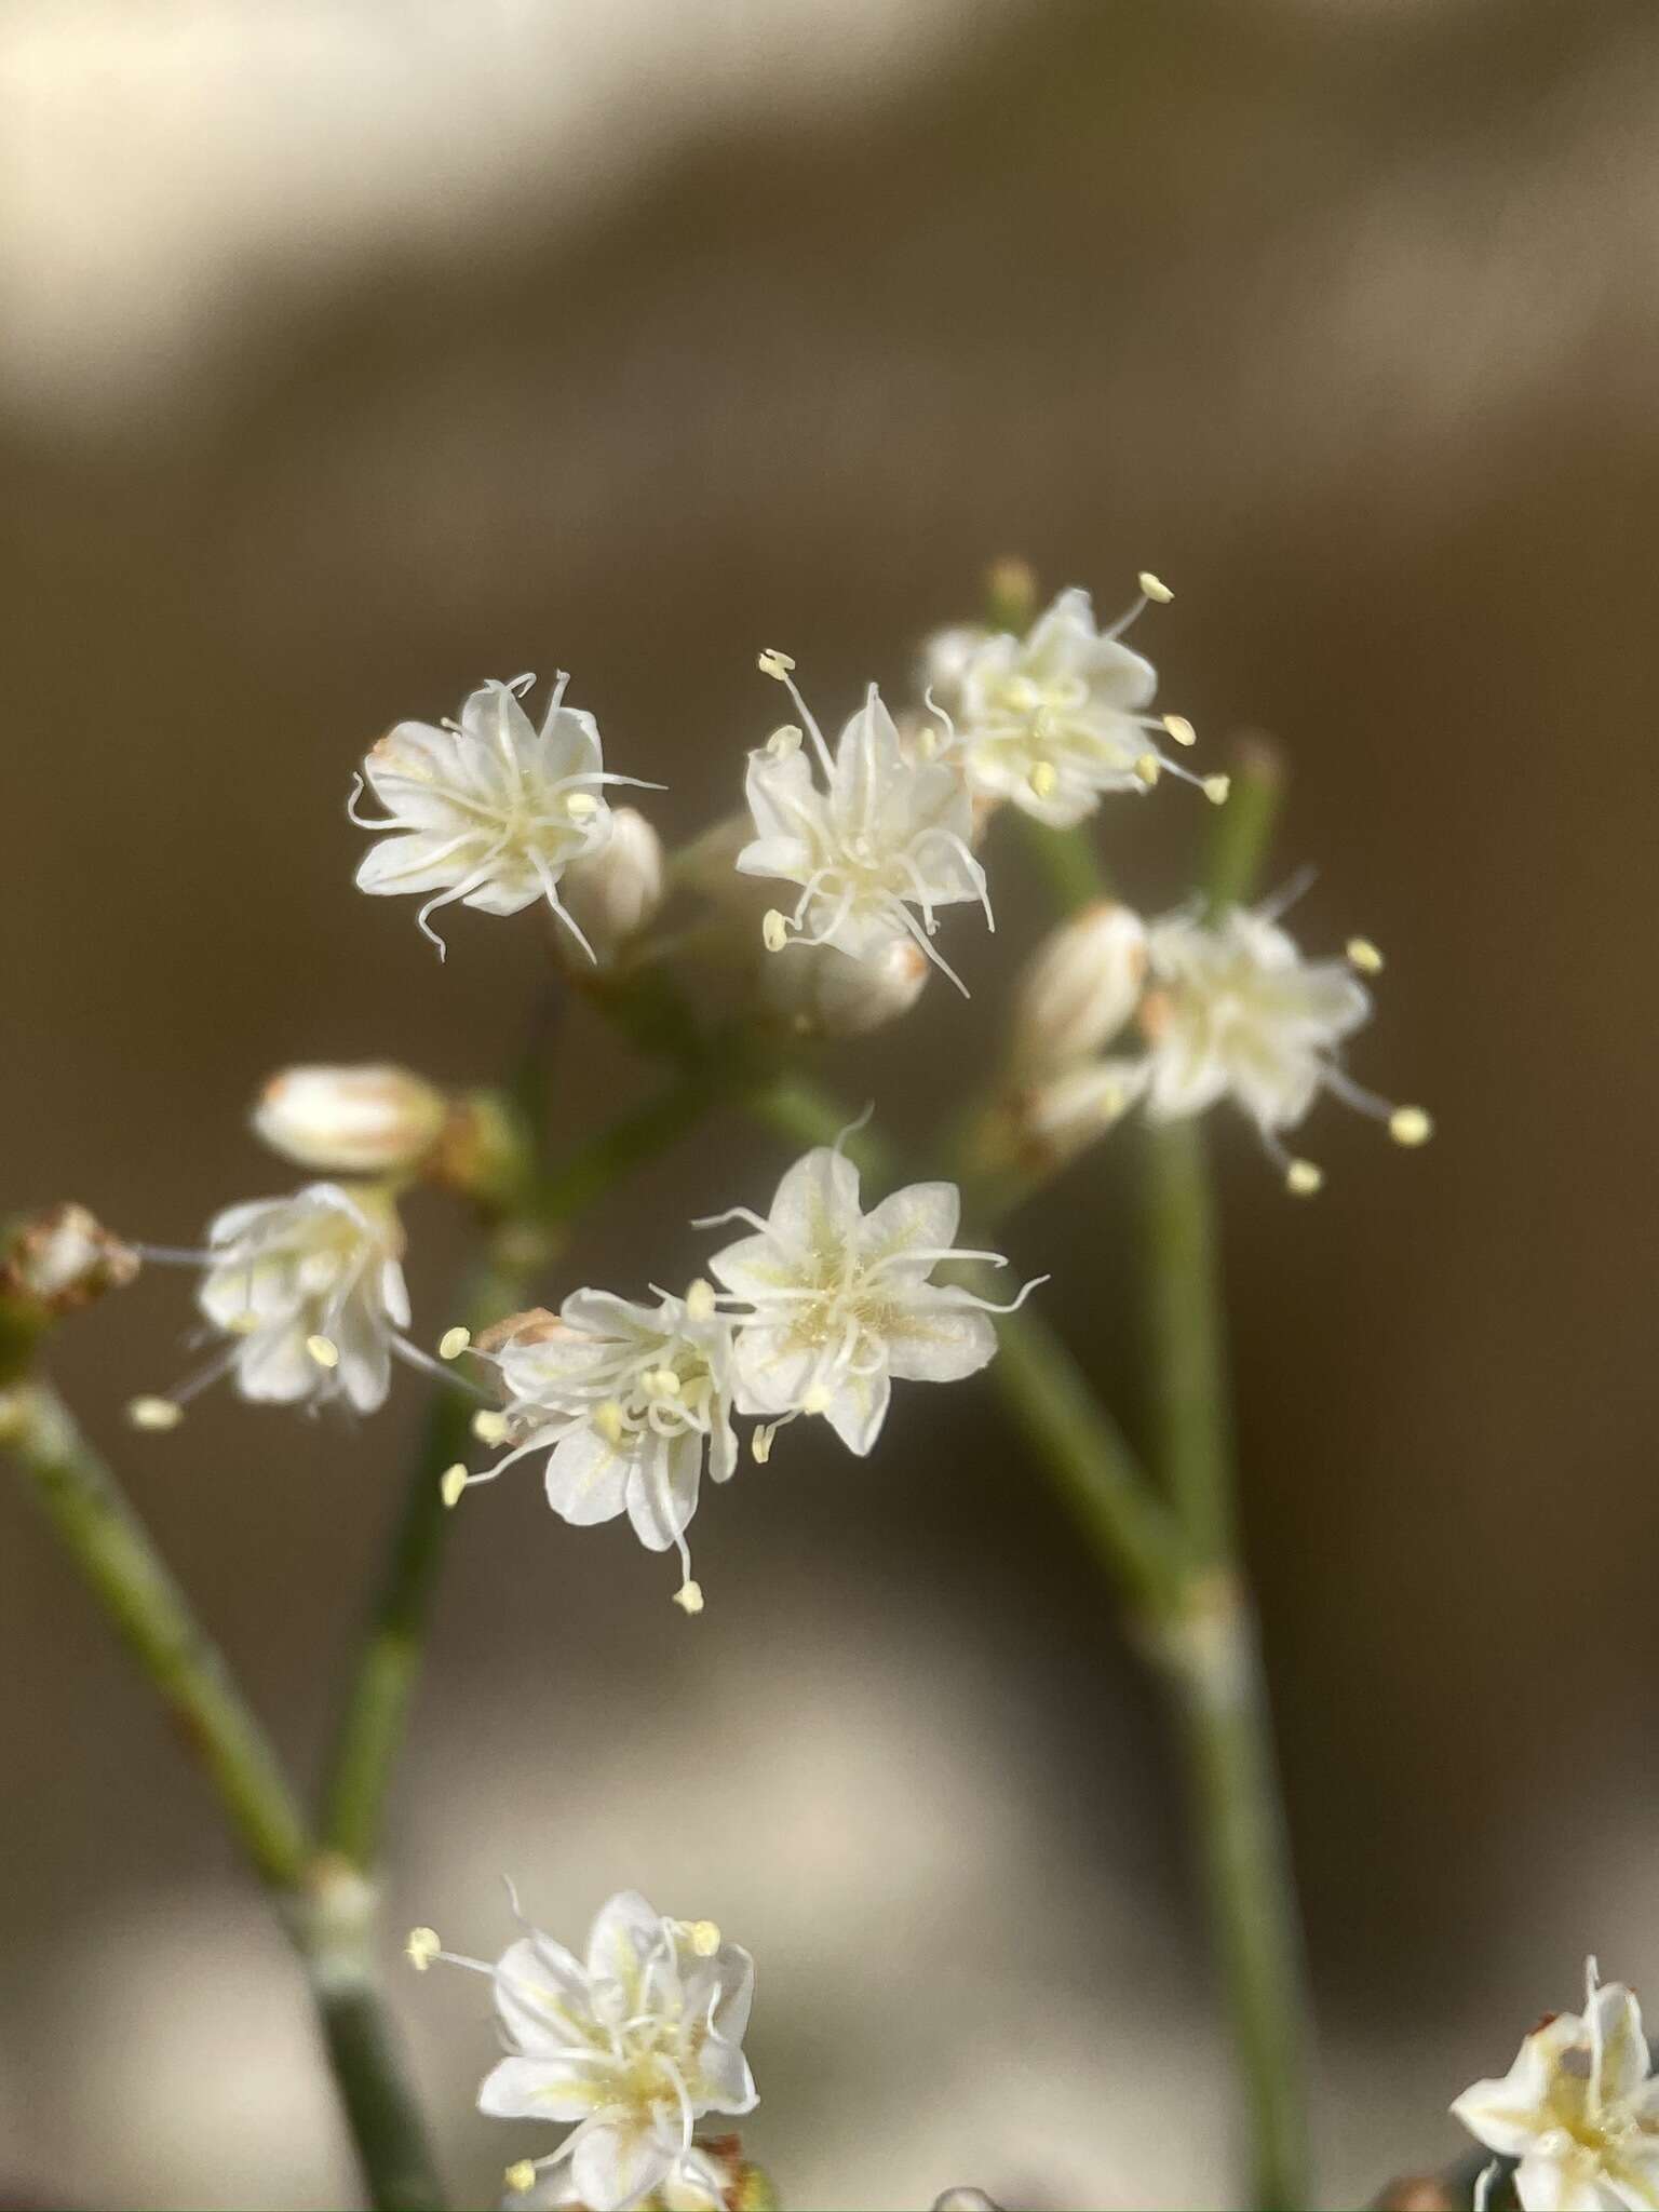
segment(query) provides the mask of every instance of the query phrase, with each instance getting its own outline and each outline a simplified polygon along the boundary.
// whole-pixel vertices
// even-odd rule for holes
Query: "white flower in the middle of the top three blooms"
[[[909,936],[962,991],[933,951],[936,907],[975,898],[991,922],[984,869],[969,849],[973,805],[962,772],[945,759],[907,759],[874,684],[832,759],[787,675],[790,664],[763,655],[761,666],[787,684],[812,739],[812,759],[794,726],[750,754],[754,838],[737,867],[801,885],[792,914],[768,914],[768,949],[801,940],[834,945],[858,960]]]

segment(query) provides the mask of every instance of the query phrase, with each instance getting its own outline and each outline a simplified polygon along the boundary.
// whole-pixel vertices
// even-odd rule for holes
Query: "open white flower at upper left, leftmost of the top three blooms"
[[[361,830],[398,832],[363,856],[358,889],[431,891],[418,920],[440,956],[445,942],[427,920],[438,907],[462,900],[482,914],[518,914],[538,898],[591,953],[560,900],[560,876],[611,836],[602,787],[639,779],[606,772],[593,714],[564,706],[564,672],[538,732],[518,703],[533,681],[484,684],[458,723],[400,721],[352,787],[347,812]],[[385,821],[356,812],[365,781]]]

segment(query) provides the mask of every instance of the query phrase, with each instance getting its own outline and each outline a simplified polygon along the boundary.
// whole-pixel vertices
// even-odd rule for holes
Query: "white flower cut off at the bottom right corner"
[[[1659,2081],[1641,2006],[1624,1982],[1601,1989],[1595,1960],[1584,2013],[1553,2013],[1502,2079],[1475,2081],[1451,2112],[1475,2141],[1520,2159],[1522,2212],[1659,2208]]]

